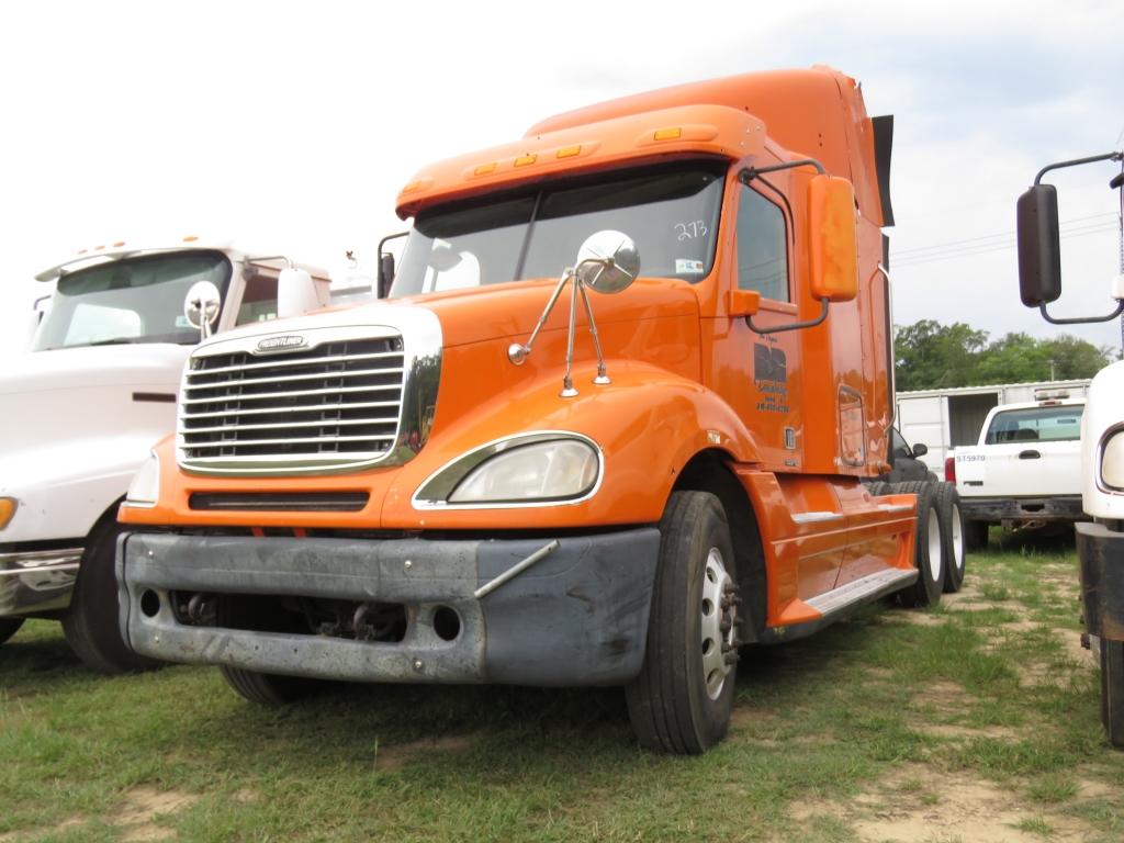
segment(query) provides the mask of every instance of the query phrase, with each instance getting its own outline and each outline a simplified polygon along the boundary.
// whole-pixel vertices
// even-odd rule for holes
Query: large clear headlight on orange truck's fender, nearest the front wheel
[[[597,482],[597,451],[579,439],[520,445],[489,457],[448,496],[450,504],[578,498]]]

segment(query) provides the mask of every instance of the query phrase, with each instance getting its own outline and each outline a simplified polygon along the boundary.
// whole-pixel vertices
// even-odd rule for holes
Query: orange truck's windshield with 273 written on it
[[[390,296],[558,278],[607,228],[636,242],[642,275],[699,281],[714,262],[724,172],[692,162],[602,173],[419,214]]]

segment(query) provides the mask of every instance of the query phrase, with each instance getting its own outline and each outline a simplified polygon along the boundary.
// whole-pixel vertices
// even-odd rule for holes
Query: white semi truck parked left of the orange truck
[[[53,292],[0,372],[0,643],[25,618],[58,618],[96,670],[143,665],[117,626],[117,506],[175,428],[191,348],[277,317],[282,277],[282,311],[287,297],[329,302],[323,270],[193,237],[83,251],[36,275]]]

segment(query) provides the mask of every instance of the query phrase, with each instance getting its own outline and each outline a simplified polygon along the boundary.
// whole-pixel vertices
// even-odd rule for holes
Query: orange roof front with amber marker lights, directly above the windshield
[[[447,158],[410,180],[398,194],[402,219],[436,201],[535,181],[577,169],[640,164],[667,156],[713,155],[737,161],[761,155],[765,126],[743,110],[709,103],[654,108],[568,126],[504,146]]]

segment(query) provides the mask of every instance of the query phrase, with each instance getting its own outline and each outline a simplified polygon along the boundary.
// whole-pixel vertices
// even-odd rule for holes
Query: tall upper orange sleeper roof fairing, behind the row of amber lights
[[[832,175],[850,179],[863,215],[888,225],[878,192],[874,133],[858,83],[824,65],[767,71],[663,88],[549,117],[526,134],[538,138],[563,129],[688,103],[715,103],[764,121],[769,138],[794,155],[821,161]]]

